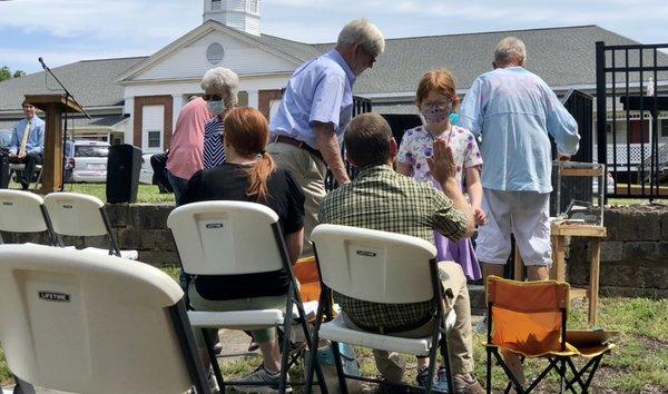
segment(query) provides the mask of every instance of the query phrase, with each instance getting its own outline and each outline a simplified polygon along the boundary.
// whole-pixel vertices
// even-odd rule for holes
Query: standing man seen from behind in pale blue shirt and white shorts
[[[513,233],[530,280],[549,277],[552,264],[549,201],[552,170],[551,135],[560,159],[578,151],[578,124],[554,92],[524,69],[524,43],[508,37],[494,51],[494,70],[471,86],[461,106],[461,124],[482,138],[483,210],[475,254],[482,273],[503,276]],[[519,358],[507,362],[524,383]]]

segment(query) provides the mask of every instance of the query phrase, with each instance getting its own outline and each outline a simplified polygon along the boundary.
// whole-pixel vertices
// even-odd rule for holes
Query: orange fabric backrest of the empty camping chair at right
[[[487,295],[492,344],[525,355],[564,349],[567,283],[514,282],[490,276]]]

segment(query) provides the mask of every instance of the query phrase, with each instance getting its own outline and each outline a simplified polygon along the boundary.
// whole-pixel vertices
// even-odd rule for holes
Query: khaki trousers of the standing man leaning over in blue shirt
[[[267,151],[276,161],[278,168],[292,173],[304,193],[304,249],[302,257],[313,256],[311,232],[317,226],[317,209],[327,194],[325,176],[327,166],[308,151],[283,142],[271,142]]]

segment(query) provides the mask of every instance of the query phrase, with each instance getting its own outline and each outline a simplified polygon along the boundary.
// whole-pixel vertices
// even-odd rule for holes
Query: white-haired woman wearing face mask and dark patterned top
[[[204,100],[214,118],[204,129],[204,169],[225,162],[223,119],[238,104],[239,77],[230,69],[216,67],[202,78]]]

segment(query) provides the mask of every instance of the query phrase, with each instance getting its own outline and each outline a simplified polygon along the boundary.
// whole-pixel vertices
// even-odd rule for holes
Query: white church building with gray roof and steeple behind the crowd
[[[416,114],[412,102],[424,72],[448,68],[463,96],[490,70],[494,47],[507,36],[525,42],[528,69],[558,95],[573,88],[596,92],[596,41],[637,43],[598,26],[387,39],[385,53],[357,78],[354,93],[377,112]],[[148,154],[169,147],[180,108],[202,93],[199,81],[209,68],[238,73],[239,105],[271,118],[292,72],[333,47],[262,33],[259,0],[204,0],[203,23],[148,57],[81,60],[53,72],[92,116],[71,121],[70,135],[132,144]],[[46,92],[43,71],[0,82],[0,129],[22,117],[24,95]],[[668,140],[668,119],[661,136]]]

